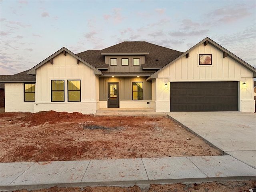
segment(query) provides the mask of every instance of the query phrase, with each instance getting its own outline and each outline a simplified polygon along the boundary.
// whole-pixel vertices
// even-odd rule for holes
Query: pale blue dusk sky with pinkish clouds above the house
[[[123,41],[185,52],[211,38],[256,68],[256,1],[0,1],[0,74],[28,70],[58,51]]]

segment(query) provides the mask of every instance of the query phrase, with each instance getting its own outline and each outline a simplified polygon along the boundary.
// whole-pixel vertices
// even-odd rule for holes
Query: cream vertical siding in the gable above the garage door
[[[199,54],[212,54],[212,65],[199,65]],[[168,75],[169,74],[169,75]],[[204,44],[190,51],[186,56],[176,60],[159,72],[158,78],[170,78],[170,81],[211,81],[211,80],[240,80],[243,76],[253,76],[253,73],[227,56],[216,47]]]

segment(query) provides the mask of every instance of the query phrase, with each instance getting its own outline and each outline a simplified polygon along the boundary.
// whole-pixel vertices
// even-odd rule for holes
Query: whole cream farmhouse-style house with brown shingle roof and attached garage
[[[148,42],[78,54],[61,48],[0,82],[5,83],[6,112],[255,112],[254,77],[254,67],[205,38],[184,53]]]

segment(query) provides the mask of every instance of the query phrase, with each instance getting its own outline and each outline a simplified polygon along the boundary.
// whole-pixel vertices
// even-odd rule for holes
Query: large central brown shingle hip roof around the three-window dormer
[[[162,68],[170,63],[172,60],[180,56],[183,52],[172,50],[166,47],[148,43],[145,41],[132,41],[132,42],[122,42],[114,46],[102,49],[102,50],[88,50],[76,54],[86,62],[90,63],[96,68],[108,67],[105,64],[105,56],[101,53],[142,53],[148,52],[148,55],[145,55],[145,64],[143,67],[151,68],[158,67]],[[158,60],[158,61],[156,61]]]

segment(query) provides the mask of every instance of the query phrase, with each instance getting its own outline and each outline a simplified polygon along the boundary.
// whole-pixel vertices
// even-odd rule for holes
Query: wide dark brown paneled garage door
[[[238,82],[171,82],[171,112],[238,111]]]

